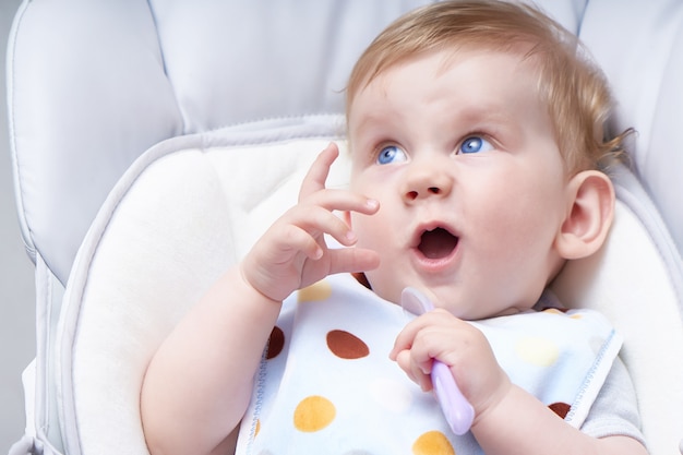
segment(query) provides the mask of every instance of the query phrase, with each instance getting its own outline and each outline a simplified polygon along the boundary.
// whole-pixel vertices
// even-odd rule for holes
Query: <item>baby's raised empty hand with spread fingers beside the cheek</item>
[[[299,203],[278,218],[242,261],[244,279],[264,296],[281,301],[291,292],[327,275],[375,268],[376,252],[357,248],[328,249],[327,234],[344,247],[357,239],[333,211],[372,215],[376,201],[344,190],[325,188],[339,151],[329,144],[315,159],[301,184]]]

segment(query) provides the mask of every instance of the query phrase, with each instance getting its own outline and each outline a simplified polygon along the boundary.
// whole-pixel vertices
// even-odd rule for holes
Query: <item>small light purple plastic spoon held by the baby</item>
[[[412,315],[420,315],[434,309],[431,300],[419,290],[410,287],[403,290],[400,306],[404,311]],[[458,388],[451,369],[445,363],[434,359],[431,375],[436,399],[451,430],[457,435],[467,433],[475,420],[475,408]]]

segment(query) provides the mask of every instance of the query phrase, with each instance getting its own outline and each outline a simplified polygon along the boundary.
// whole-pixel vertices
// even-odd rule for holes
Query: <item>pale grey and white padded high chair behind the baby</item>
[[[35,263],[21,454],[145,454],[156,347],[344,146],[344,88],[426,0],[25,0],[8,48],[16,207]],[[553,288],[623,334],[652,455],[683,439],[683,3],[542,0],[603,68],[633,127],[616,217]],[[348,163],[335,164],[344,185]],[[26,302],[29,304],[29,302]],[[16,417],[22,418],[21,416]]]

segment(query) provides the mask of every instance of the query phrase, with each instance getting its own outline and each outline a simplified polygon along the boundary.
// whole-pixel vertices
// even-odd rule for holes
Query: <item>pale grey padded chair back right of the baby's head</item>
[[[590,1],[579,37],[618,101],[613,125],[634,128],[633,169],[683,251],[683,3]]]

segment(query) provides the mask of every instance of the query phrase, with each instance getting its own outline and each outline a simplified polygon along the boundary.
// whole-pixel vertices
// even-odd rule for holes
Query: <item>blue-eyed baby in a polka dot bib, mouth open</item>
[[[599,314],[541,311],[565,262],[608,236],[610,108],[575,38],[529,7],[446,1],[396,21],[349,80],[349,189],[325,188],[331,144],[156,352],[151,452],[647,453],[619,337]],[[406,325],[407,287],[436,309]],[[507,349],[520,333],[553,348]],[[529,350],[520,373],[508,357]],[[435,360],[474,408],[463,436],[422,392]]]

